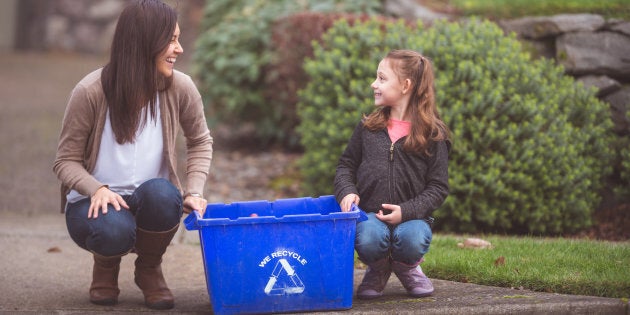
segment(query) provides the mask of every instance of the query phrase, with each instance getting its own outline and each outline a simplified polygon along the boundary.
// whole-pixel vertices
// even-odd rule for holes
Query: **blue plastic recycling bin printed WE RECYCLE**
[[[215,314],[352,308],[356,223],[334,196],[209,204],[199,230]]]

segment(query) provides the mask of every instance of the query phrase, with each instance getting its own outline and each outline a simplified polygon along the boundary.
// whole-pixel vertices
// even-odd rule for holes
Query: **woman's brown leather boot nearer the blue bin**
[[[156,310],[167,310],[175,306],[171,290],[166,286],[162,274],[162,255],[175,236],[179,224],[166,232],[150,232],[140,228],[136,231],[135,282],[144,294],[144,304]]]

